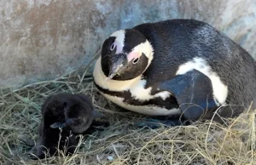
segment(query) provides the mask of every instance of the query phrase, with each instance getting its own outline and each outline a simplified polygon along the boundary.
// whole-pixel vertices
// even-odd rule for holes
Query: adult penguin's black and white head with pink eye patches
[[[151,43],[140,31],[115,31],[102,44],[102,71],[113,80],[131,80],[146,71],[153,54]]]

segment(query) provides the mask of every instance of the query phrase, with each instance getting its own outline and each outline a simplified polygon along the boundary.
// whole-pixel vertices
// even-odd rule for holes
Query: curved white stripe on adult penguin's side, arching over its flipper
[[[213,96],[218,100],[218,103],[224,104],[228,96],[228,87],[221,82],[218,74],[212,71],[211,66],[207,64],[206,60],[198,57],[194,58],[192,61],[180,65],[176,75],[183,75],[193,69],[201,71],[201,73],[210,78],[212,82]]]

